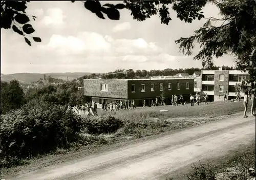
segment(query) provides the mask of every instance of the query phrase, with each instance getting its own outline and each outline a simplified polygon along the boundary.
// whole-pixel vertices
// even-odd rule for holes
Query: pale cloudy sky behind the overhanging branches
[[[219,16],[212,5],[207,5],[204,12],[206,17]],[[120,10],[120,20],[110,20],[106,15],[106,19],[100,19],[82,2],[32,1],[27,13],[37,16],[31,22],[36,30],[31,35],[42,42],[32,40],[29,47],[13,30],[1,29],[3,74],[201,68],[200,61],[179,53],[174,40],[191,35],[204,20],[185,24],[173,10],[168,26],[160,23],[158,15],[138,22],[128,10]],[[196,48],[194,55],[198,51]],[[214,61],[216,65],[234,63],[231,56]]]

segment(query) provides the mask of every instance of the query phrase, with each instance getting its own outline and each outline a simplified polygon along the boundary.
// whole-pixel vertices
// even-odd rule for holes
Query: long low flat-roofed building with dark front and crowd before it
[[[188,102],[189,95],[194,93],[193,78],[156,77],[152,79],[84,79],[84,96],[91,96],[92,101],[100,105],[102,102],[116,100],[135,100],[137,106],[146,100],[165,97],[170,104],[172,95],[183,95]],[[100,106],[98,106],[100,107]]]

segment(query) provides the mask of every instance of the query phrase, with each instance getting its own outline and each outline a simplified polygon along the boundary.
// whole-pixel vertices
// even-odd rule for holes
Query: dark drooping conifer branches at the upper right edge
[[[252,0],[218,5],[222,19],[209,18],[202,28],[196,30],[193,36],[176,40],[180,52],[192,55],[195,43],[200,44],[201,50],[194,59],[202,60],[202,65],[210,68],[213,57],[233,54],[237,57],[237,67],[248,70],[251,80],[256,76],[256,2]],[[221,26],[212,26],[211,22],[221,20]],[[226,23],[227,22],[227,23]],[[226,23],[226,24],[225,24]]]

